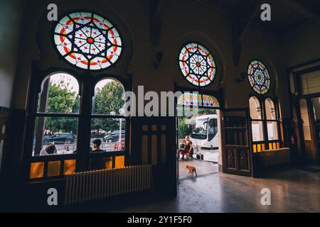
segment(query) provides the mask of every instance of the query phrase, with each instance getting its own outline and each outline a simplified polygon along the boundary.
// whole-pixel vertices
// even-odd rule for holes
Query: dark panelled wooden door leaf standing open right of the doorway
[[[252,176],[249,109],[223,111],[223,172]]]

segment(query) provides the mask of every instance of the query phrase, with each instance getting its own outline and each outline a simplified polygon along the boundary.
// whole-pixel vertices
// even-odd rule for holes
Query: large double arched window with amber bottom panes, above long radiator
[[[36,106],[30,114],[30,179],[124,167],[128,123],[122,109],[124,87],[112,78],[84,81],[64,72],[33,81],[39,94],[34,94]],[[53,146],[55,150],[48,149]]]

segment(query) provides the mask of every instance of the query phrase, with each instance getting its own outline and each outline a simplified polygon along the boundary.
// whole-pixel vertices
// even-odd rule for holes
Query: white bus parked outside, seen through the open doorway
[[[194,148],[218,149],[217,114],[198,116],[194,119],[191,142]]]

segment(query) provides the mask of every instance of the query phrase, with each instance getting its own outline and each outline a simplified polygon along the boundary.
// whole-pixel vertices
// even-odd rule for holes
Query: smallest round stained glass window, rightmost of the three
[[[258,94],[266,94],[270,89],[270,74],[265,64],[253,60],[247,69],[247,77],[252,89]]]

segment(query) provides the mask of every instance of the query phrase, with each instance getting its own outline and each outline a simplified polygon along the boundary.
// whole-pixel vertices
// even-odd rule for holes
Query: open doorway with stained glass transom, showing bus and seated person
[[[185,114],[184,107],[192,99],[192,94],[184,94],[177,105],[177,165],[178,179],[193,179],[218,172],[220,141],[220,111],[214,96],[197,95],[200,104],[191,103],[191,116]],[[194,98],[194,97],[193,97]],[[203,105],[207,101],[211,105]],[[202,104],[201,104],[202,102]],[[197,109],[194,111],[194,109]],[[187,166],[195,167],[191,175]]]

